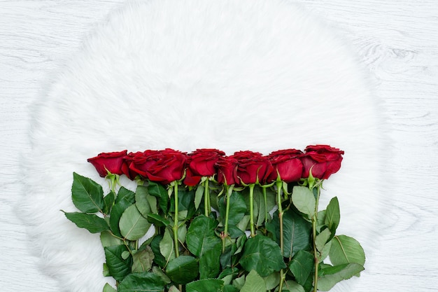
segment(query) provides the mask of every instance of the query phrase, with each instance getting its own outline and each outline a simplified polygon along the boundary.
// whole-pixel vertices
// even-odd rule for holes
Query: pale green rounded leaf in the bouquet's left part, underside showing
[[[120,217],[119,222],[120,233],[125,239],[136,240],[148,232],[150,223],[148,219],[141,216],[135,204],[127,207]]]

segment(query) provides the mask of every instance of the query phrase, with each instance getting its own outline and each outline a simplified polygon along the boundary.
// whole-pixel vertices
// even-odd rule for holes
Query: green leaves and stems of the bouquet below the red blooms
[[[135,192],[120,187],[104,197],[99,184],[73,174],[72,200],[80,212],[64,214],[79,228],[100,232],[104,275],[117,281],[117,289],[106,284],[103,292],[314,292],[314,284],[328,291],[364,269],[365,253],[355,239],[336,235],[337,198],[317,210],[321,181],[301,183],[283,183],[292,195],[281,197],[282,216],[277,210],[271,217],[276,188],[267,186],[265,200],[255,186],[250,214],[248,188],[230,186],[227,198],[223,186],[209,181],[218,213],[206,216],[201,184],[146,181]],[[248,238],[251,216],[255,236]],[[151,225],[155,234],[146,239]],[[327,256],[332,265],[323,263]]]

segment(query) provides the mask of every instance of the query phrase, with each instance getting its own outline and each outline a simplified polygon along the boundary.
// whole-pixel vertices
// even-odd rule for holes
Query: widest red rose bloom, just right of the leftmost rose
[[[169,184],[183,177],[187,155],[173,149],[147,150],[142,157],[134,157],[130,169],[150,181]]]

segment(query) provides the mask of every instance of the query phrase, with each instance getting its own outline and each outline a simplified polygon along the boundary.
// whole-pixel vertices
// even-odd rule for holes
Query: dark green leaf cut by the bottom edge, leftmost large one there
[[[164,282],[152,272],[129,274],[118,286],[118,292],[157,292],[164,291]]]

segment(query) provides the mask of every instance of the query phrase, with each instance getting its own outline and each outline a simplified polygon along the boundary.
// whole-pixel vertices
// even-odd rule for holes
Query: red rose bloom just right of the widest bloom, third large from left
[[[199,183],[202,176],[213,176],[216,174],[216,162],[223,151],[217,149],[197,149],[188,155],[187,172],[184,183],[186,186],[195,186]]]

